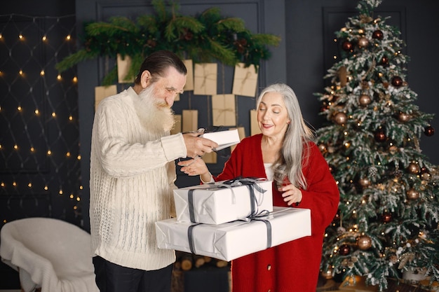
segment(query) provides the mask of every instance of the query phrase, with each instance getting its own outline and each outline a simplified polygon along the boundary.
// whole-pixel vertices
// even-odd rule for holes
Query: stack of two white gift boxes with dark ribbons
[[[158,247],[229,261],[311,235],[311,211],[273,207],[271,184],[244,178],[174,190],[177,218],[156,222]]]

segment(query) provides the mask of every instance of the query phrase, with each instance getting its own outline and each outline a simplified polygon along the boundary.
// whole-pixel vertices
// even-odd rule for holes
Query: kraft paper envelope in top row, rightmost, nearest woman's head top
[[[245,97],[255,97],[257,85],[257,72],[255,65],[244,67],[244,63],[238,63],[235,66],[234,86],[231,92],[234,95],[243,95]]]

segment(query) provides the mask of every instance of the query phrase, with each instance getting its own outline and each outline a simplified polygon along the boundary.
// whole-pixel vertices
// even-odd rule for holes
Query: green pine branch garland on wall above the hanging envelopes
[[[153,0],[154,13],[140,15],[135,22],[113,17],[109,22],[84,25],[83,48],[56,64],[65,71],[79,62],[97,57],[129,56],[132,65],[126,80],[133,79],[147,55],[156,50],[170,50],[182,59],[194,62],[219,61],[234,66],[243,62],[257,69],[261,60],[271,57],[267,46],[278,46],[279,36],[252,34],[241,18],[224,18],[219,8],[209,8],[196,16],[180,15],[180,5]],[[109,71],[103,85],[117,80],[117,68]]]

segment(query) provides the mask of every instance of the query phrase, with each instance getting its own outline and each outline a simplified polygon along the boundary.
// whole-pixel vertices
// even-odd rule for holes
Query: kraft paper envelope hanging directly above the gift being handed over
[[[236,125],[234,95],[212,95],[212,124],[214,126]]]

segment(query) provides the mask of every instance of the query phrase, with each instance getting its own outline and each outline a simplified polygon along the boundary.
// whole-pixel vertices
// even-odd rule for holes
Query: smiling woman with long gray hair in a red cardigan
[[[200,175],[203,183],[266,178],[273,181],[275,206],[311,209],[311,236],[232,260],[231,274],[233,292],[315,292],[323,233],[339,203],[337,184],[288,85],[262,90],[257,123],[262,133],[243,139],[218,176],[201,159],[179,165],[182,172]]]

